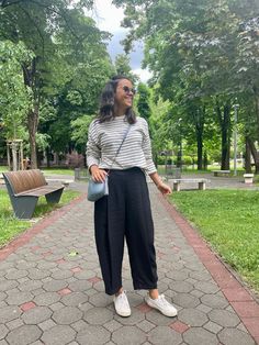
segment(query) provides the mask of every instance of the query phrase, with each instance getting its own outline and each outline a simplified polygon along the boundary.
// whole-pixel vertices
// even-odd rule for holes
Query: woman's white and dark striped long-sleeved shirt
[[[139,167],[148,175],[157,171],[151,156],[148,124],[143,118],[137,118],[136,123],[131,124],[127,137],[114,160],[128,126],[125,116],[115,116],[103,123],[97,120],[91,122],[87,143],[89,168],[98,165],[99,168],[120,170]]]

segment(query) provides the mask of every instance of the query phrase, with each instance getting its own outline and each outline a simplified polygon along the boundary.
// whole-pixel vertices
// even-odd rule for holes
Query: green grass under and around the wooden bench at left
[[[80,193],[77,191],[65,190],[59,203],[55,205],[47,204],[45,197],[41,197],[33,214],[33,220],[35,221],[35,218],[42,218],[54,209],[64,207],[79,194]],[[15,219],[7,191],[0,190],[0,247],[29,229],[32,225],[33,220],[22,221]]]

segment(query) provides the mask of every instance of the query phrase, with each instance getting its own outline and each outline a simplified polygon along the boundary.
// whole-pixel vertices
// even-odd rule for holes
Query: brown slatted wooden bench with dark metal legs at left
[[[47,203],[60,200],[64,186],[49,186],[38,169],[3,172],[13,211],[19,219],[31,219],[37,199],[45,196]]]

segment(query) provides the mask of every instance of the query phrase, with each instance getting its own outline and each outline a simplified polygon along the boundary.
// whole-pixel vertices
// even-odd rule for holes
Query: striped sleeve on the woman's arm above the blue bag
[[[101,149],[98,145],[97,122],[91,122],[88,132],[87,142],[87,165],[90,168],[92,165],[99,165],[101,158]]]

